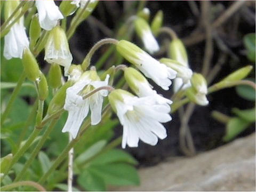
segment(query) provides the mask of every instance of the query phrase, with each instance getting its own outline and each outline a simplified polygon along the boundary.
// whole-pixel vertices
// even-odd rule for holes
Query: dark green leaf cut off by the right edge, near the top
[[[244,46],[247,50],[247,58],[250,61],[255,62],[255,33],[244,36]]]

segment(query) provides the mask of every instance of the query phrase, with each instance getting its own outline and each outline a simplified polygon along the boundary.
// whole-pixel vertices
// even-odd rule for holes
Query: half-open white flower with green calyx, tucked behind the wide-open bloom
[[[155,98],[158,104],[166,105],[167,107],[170,107],[172,104],[170,99],[166,99],[162,97],[162,95],[157,94],[157,92],[152,89],[147,79],[138,70],[127,67],[124,69],[124,77],[130,89],[139,97],[151,96]]]

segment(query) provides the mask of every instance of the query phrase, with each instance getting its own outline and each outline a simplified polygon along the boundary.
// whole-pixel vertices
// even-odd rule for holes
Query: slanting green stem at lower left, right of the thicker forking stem
[[[29,159],[26,161],[25,165],[23,166],[23,169],[20,171],[20,173],[15,178],[15,181],[19,181],[22,176],[26,173],[26,170],[28,169],[29,165],[34,161],[34,158],[37,156],[40,149],[43,147],[44,142],[48,138],[49,134],[52,132],[54,125],[57,123],[58,119],[53,119],[49,127],[45,130],[44,134],[42,135],[41,140],[37,143],[36,148],[32,151]]]

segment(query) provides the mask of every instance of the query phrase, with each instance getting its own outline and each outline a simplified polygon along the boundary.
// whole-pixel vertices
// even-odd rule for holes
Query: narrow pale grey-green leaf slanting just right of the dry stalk
[[[93,157],[94,155],[98,154],[102,150],[102,148],[104,146],[106,146],[106,143],[107,143],[106,140],[100,140],[100,141],[96,142],[94,145],[92,145],[86,151],[84,151],[84,153],[79,155],[76,158],[75,163],[77,163],[77,164],[83,163],[87,159],[89,159],[89,158]]]

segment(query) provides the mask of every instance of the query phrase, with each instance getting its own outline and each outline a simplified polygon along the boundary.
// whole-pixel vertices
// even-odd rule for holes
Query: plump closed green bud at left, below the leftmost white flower
[[[40,70],[34,55],[28,48],[25,48],[23,51],[22,63],[27,78],[30,81],[36,81],[36,79],[40,76]]]

